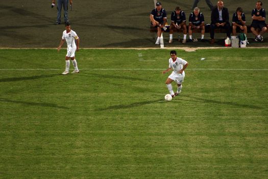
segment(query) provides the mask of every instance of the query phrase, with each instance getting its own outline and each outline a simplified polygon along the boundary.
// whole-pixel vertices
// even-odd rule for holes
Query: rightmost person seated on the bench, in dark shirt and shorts
[[[262,2],[258,1],[256,3],[256,8],[252,10],[252,24],[251,24],[251,32],[256,36],[255,41],[263,41],[263,37],[261,36],[267,30],[265,24],[265,10],[261,8]],[[260,32],[257,31],[260,29]]]

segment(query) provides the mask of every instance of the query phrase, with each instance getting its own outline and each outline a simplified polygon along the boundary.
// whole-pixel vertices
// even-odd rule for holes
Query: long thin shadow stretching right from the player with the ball
[[[204,98],[197,98],[197,97],[189,97],[185,96],[187,98],[192,98],[196,100],[188,100],[188,99],[180,99],[182,101],[192,101],[192,102],[200,102],[200,103],[215,103],[215,104],[224,104],[224,105],[230,105],[230,106],[237,106],[237,107],[247,107],[247,108],[253,108],[253,109],[263,109],[262,107],[251,105],[251,104],[239,104],[236,102],[229,102],[229,101],[217,101],[212,99],[204,99]]]

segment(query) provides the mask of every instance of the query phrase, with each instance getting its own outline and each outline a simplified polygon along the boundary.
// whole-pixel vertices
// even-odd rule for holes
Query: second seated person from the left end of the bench
[[[169,43],[172,43],[174,29],[183,29],[182,43],[186,43],[187,27],[185,13],[178,6],[171,14],[171,24],[169,27]]]

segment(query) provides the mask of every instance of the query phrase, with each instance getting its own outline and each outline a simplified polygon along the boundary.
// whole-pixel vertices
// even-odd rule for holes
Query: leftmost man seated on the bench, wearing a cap
[[[155,44],[160,44],[160,36],[162,33],[162,28],[165,28],[166,22],[166,11],[162,8],[160,2],[156,3],[156,8],[152,10],[150,14],[151,25],[157,27],[157,40]]]

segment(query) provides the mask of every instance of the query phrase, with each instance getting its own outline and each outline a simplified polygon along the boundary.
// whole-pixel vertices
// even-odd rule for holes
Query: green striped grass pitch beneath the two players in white
[[[267,49],[177,52],[0,50],[0,178],[267,178]]]

